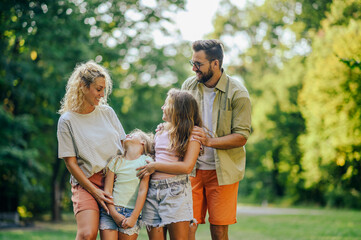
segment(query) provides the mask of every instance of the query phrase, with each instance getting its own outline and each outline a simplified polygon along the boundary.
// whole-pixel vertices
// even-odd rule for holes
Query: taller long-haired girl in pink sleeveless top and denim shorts
[[[138,168],[140,178],[152,178],[143,207],[142,221],[149,239],[188,239],[193,220],[191,173],[201,150],[192,139],[194,126],[202,127],[196,99],[186,91],[171,89],[162,106],[162,130],[155,136],[155,162]]]

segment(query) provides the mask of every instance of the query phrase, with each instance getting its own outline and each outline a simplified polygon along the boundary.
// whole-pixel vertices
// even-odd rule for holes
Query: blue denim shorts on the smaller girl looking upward
[[[130,215],[132,215],[132,212],[134,210],[134,209],[124,208],[124,207],[119,207],[119,206],[115,206],[115,209],[117,210],[118,213],[122,214],[126,218],[130,217]],[[106,211],[103,208],[101,208],[100,209],[99,229],[100,230],[117,230],[118,232],[122,232],[127,235],[133,235],[135,233],[139,234],[139,231],[140,231],[139,219],[140,219],[140,217],[138,218],[134,227],[124,229],[122,227],[118,227],[117,224],[114,222],[112,216],[110,214],[108,215],[106,213]]]

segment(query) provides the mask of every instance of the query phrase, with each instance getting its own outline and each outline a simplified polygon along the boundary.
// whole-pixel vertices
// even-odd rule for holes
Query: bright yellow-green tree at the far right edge
[[[361,71],[340,61],[361,58],[360,9],[357,0],[332,4],[314,37],[299,98],[305,187],[329,206],[361,207]]]

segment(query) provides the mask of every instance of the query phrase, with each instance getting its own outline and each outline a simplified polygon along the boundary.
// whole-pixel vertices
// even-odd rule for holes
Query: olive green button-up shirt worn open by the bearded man
[[[201,111],[203,111],[204,87],[202,83],[197,82],[196,77],[188,78],[182,85],[183,90],[189,90],[195,96]],[[247,89],[239,80],[231,78],[223,71],[214,91],[216,92],[212,110],[214,137],[238,133],[248,139],[251,132],[251,101]],[[246,167],[245,147],[216,149],[215,164],[219,185],[242,180]],[[195,169],[192,175],[195,175]]]

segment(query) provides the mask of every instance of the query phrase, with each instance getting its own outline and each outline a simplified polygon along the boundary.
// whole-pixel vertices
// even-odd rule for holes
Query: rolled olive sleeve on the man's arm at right
[[[251,132],[251,100],[240,96],[232,102],[232,133],[239,133],[248,139]]]

